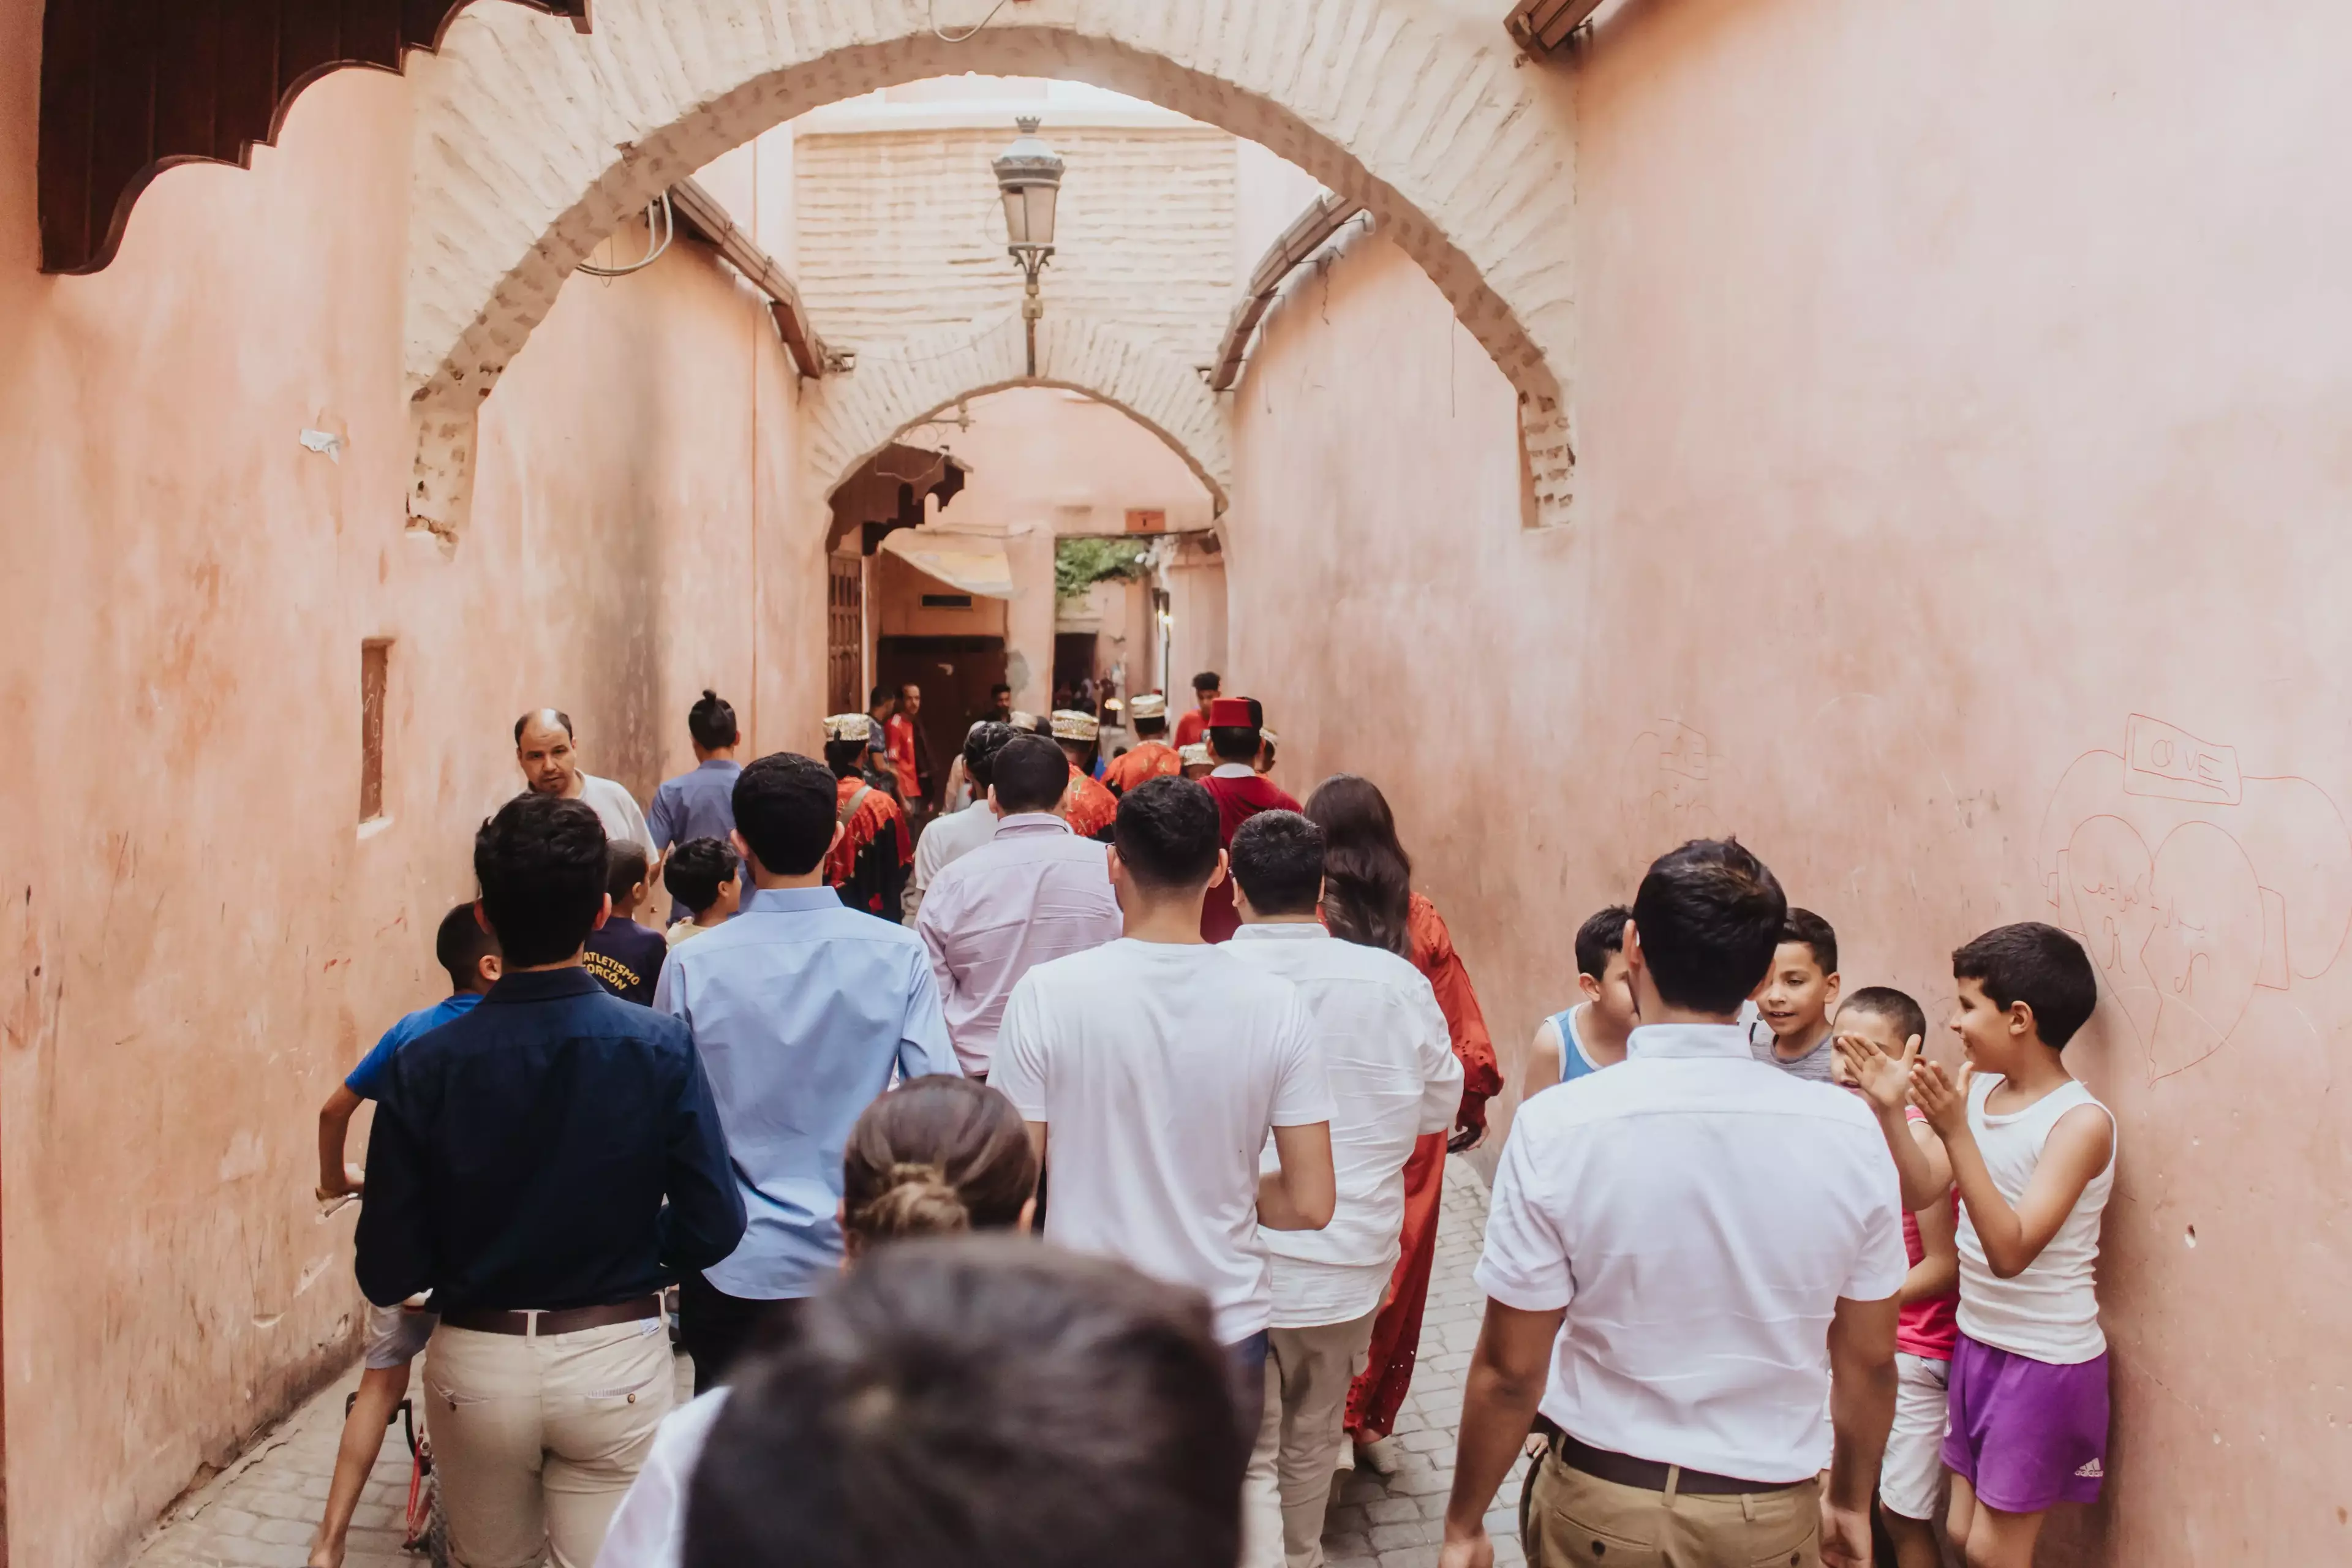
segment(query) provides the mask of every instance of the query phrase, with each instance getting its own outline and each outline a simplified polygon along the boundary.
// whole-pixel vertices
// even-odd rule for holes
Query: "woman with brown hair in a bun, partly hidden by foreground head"
[[[985,1084],[943,1072],[908,1079],[849,1128],[842,1269],[908,1237],[1025,1232],[1035,1213],[1037,1152],[1014,1103]],[[663,1418],[595,1568],[677,1568],[694,1462],[724,1408],[717,1387]]]

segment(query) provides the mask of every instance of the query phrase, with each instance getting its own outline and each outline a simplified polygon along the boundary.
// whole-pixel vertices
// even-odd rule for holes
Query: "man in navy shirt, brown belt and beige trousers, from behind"
[[[743,1237],[687,1027],[583,964],[612,907],[590,806],[522,795],[475,835],[506,969],[383,1074],[360,1288],[433,1291],[433,1458],[452,1556],[590,1568],[675,1389],[661,1286]]]

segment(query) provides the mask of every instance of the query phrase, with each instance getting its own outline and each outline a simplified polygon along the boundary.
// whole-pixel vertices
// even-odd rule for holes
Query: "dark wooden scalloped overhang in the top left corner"
[[[588,0],[506,0],[588,28]],[[397,71],[466,0],[49,0],[40,21],[40,268],[115,259],[176,162],[249,167],[303,87]]]

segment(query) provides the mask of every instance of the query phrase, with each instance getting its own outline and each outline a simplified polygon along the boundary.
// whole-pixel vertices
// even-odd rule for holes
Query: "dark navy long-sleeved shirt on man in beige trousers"
[[[586,969],[506,976],[383,1072],[358,1269],[379,1307],[626,1302],[741,1237],[694,1041]]]

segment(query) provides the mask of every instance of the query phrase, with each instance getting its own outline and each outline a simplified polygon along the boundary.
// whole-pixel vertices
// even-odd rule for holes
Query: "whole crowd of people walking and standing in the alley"
[[[941,771],[913,686],[750,764],[706,691],[642,813],[567,715],[515,724],[449,997],[320,1112],[369,1324],[315,1568],[419,1354],[466,1568],[1319,1568],[1503,1088],[1477,994],[1381,790],[1296,802],[1254,698],[1202,675],[1171,731],[1138,693],[1103,757],[1098,710],[1009,696]],[[1898,1568],[2030,1568],[2107,1439],[2082,947],[1955,952],[1957,1074],[1736,842],[1573,966],[1439,1561],[1491,1561],[1524,1450],[1552,1568],[1853,1566],[1875,1519]]]

